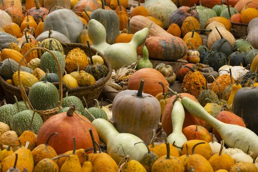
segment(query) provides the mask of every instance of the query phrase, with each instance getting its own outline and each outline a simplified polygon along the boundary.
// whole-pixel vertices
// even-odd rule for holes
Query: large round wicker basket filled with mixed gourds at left
[[[67,54],[70,50],[79,47],[80,49],[84,50],[86,55],[88,55],[88,47],[85,44],[78,44],[78,43],[68,43],[68,44],[62,44],[65,54]],[[95,54],[97,52],[96,49],[90,48],[91,55]],[[88,106],[94,106],[94,99],[97,99],[100,95],[104,85],[106,82],[110,79],[112,69],[111,64],[107,60],[107,58],[103,57],[101,53],[98,53],[99,56],[101,56],[104,59],[105,65],[108,67],[108,74],[105,78],[102,78],[96,82],[95,85],[92,86],[80,86],[76,88],[69,88],[65,84],[63,84],[63,94],[65,95],[65,92],[68,91],[69,95],[74,95],[79,97],[81,100],[83,100],[83,96],[86,98],[86,102]],[[57,86],[59,83],[53,83],[55,86]],[[12,86],[5,82],[3,78],[0,76],[0,85],[3,88],[4,91],[4,97],[6,99],[7,103],[15,103],[14,95],[16,95],[18,100],[22,100],[22,95],[20,88],[18,86]],[[29,89],[25,89],[26,93],[29,93]],[[83,101],[84,102],[84,101]]]

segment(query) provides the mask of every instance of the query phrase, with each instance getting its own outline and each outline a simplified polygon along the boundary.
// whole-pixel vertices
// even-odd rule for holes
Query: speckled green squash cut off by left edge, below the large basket
[[[0,107],[0,122],[10,126],[11,119],[18,113],[17,106],[6,104]]]

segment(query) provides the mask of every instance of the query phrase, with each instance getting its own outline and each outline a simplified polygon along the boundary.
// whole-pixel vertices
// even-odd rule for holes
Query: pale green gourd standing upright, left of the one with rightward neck
[[[102,54],[110,46],[106,42],[107,32],[105,27],[95,19],[90,19],[88,22],[88,37],[92,42],[91,47]]]

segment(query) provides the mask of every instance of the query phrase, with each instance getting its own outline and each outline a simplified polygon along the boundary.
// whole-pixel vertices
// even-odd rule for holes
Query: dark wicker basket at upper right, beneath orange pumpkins
[[[231,33],[236,39],[247,36],[248,24],[231,22],[231,25],[232,25]]]

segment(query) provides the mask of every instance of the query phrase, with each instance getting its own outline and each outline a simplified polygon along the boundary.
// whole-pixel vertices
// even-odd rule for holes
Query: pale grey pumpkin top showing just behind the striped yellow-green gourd
[[[64,34],[58,32],[56,30],[51,30],[51,31],[52,31],[51,36],[50,36],[51,38],[55,38],[62,43],[71,43],[69,38],[67,36],[65,36]],[[36,41],[41,42],[42,40],[48,38],[48,35],[49,35],[49,31],[48,30],[44,31],[36,37]]]

